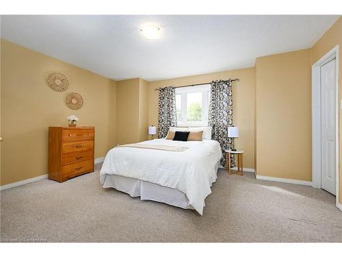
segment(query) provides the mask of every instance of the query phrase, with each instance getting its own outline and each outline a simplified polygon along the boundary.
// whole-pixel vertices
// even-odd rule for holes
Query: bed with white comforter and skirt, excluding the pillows
[[[222,158],[218,141],[161,138],[135,146],[114,147],[108,151],[100,173],[103,187],[116,188],[131,197],[194,209],[202,215]]]

